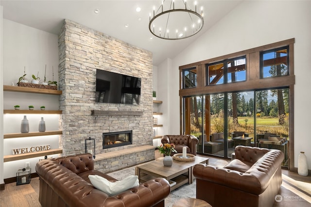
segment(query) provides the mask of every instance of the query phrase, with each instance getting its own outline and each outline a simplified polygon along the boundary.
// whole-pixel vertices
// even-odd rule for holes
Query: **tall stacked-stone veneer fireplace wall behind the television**
[[[95,103],[96,69],[141,78],[140,105]],[[88,137],[96,139],[96,154],[152,145],[152,69],[150,51],[66,19],[59,36],[63,155],[84,153]],[[94,116],[91,110],[143,111],[143,115]],[[103,149],[103,132],[126,130],[133,130],[132,145]],[[147,154],[141,154],[150,157],[145,161],[154,159],[154,152]]]

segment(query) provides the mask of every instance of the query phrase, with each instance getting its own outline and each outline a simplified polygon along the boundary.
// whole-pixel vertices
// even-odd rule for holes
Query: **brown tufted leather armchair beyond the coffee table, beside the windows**
[[[164,135],[161,142],[162,144],[175,144],[174,149],[177,151],[177,153],[182,153],[183,147],[187,147],[187,153],[196,155],[196,145],[199,143],[199,140],[193,135]]]

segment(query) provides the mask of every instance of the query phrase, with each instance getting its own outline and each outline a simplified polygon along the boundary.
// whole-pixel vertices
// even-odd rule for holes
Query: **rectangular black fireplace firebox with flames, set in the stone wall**
[[[103,133],[103,149],[132,144],[132,131]]]

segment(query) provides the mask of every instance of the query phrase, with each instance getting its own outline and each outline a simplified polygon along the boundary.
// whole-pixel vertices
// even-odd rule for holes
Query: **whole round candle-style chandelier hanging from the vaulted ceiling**
[[[162,0],[157,10],[154,7],[153,17],[149,14],[149,31],[167,40],[185,39],[200,32],[204,25],[203,7],[197,12],[196,4],[195,1],[192,10],[187,0]]]

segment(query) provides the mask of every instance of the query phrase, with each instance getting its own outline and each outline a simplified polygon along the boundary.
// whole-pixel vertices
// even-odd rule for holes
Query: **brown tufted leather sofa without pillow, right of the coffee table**
[[[212,207],[271,207],[282,184],[283,159],[280,150],[239,145],[223,168],[194,166],[196,198]]]

